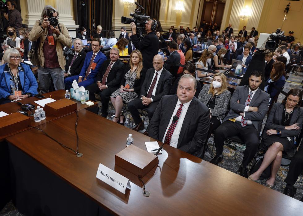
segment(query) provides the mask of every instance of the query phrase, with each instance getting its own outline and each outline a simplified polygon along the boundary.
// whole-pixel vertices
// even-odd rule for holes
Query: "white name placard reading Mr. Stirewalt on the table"
[[[101,163],[99,164],[96,178],[124,194],[126,192],[126,188],[131,189],[129,179],[113,171],[112,169],[109,169]]]

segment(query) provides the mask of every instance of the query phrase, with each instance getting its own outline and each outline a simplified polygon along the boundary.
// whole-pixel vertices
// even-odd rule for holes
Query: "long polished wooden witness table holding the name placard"
[[[168,145],[164,146],[163,154],[158,155],[158,167],[143,177],[146,190],[151,193],[150,197],[144,197],[138,177],[115,166],[115,154],[126,147],[129,133],[133,134],[134,145],[144,150],[144,142],[155,140],[85,109],[78,113],[79,152],[83,154],[81,158],[36,129],[25,130],[6,140],[11,149],[38,162],[39,166],[50,171],[62,184],[71,185],[73,191],[81,192],[79,194],[84,194],[86,200],[96,203],[100,209],[117,215],[301,215],[303,212],[301,201]],[[59,142],[75,149],[75,119],[75,114],[71,113],[42,124],[40,128]],[[12,160],[17,159],[18,154],[12,152]],[[127,189],[124,195],[97,180],[99,163],[129,178],[131,190]],[[27,166],[26,160],[13,164],[16,175],[22,176],[16,180],[17,184],[29,178],[25,171],[30,169]],[[29,188],[35,187],[37,179],[43,181],[43,176],[40,176],[40,180],[39,175],[34,173],[30,176],[33,185],[27,184],[28,188],[19,192],[22,196],[32,195]],[[57,181],[49,181],[43,182],[46,188],[40,191],[40,197],[37,195],[39,189],[33,192],[32,197],[37,197],[38,202],[29,203],[28,205],[34,206],[28,208],[33,211],[36,207],[43,210],[47,207],[51,214],[46,215],[64,215],[62,211],[70,207],[66,206],[66,201],[73,198],[73,195],[64,193],[64,190],[57,191],[58,188],[52,185]],[[54,188],[52,194],[47,193],[47,188]],[[51,200],[57,201],[56,204],[52,205],[49,201],[47,206],[43,206],[41,200],[50,195],[57,197],[59,204],[58,200]],[[20,202],[25,201],[24,197]],[[83,211],[87,206],[91,205],[74,203],[74,208],[70,209]],[[18,204],[16,207],[19,209]],[[56,209],[61,214],[56,214]],[[70,212],[69,215],[75,214]]]

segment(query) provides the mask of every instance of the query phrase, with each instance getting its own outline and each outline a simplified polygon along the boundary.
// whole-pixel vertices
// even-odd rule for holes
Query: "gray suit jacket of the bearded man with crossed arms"
[[[237,116],[239,116],[240,112],[244,112],[245,102],[248,97],[248,91],[249,91],[248,85],[237,86],[236,90],[233,92],[232,97],[230,98],[230,102],[229,102],[230,110],[223,121],[228,121],[228,119],[236,118]],[[239,104],[238,104],[238,100],[240,101]],[[268,111],[268,103],[269,103],[269,94],[258,88],[254,97],[250,101],[250,106],[258,107],[258,112],[245,113],[245,120],[252,121],[252,124],[258,131],[261,130],[260,121],[263,120],[264,116]]]

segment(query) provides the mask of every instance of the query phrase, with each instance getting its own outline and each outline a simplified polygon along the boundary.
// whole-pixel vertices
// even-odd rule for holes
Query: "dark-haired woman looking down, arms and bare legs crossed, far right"
[[[259,169],[248,179],[257,181],[262,172],[271,165],[271,176],[266,181],[268,188],[273,188],[275,176],[280,168],[282,152],[294,156],[303,123],[303,110],[300,108],[302,91],[290,90],[282,103],[276,103],[271,108],[263,133],[263,144],[269,147],[264,155]]]

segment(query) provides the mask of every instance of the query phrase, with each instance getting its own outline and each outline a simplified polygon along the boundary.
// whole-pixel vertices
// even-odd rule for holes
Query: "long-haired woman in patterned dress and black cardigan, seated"
[[[115,117],[113,118],[114,122],[124,125],[125,116],[121,113],[123,101],[127,104],[140,96],[145,73],[142,54],[136,49],[130,54],[130,66],[124,72],[120,88],[110,95],[110,100],[116,109]]]

